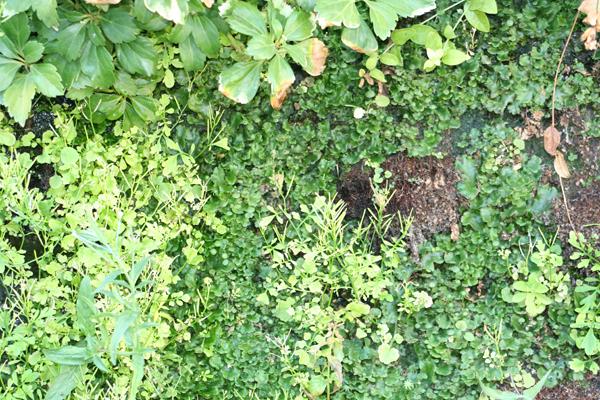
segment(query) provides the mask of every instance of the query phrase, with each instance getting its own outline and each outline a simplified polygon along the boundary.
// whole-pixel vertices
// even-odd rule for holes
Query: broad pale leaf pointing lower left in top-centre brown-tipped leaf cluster
[[[262,61],[233,64],[219,75],[219,91],[237,103],[247,104],[258,91],[261,68]]]

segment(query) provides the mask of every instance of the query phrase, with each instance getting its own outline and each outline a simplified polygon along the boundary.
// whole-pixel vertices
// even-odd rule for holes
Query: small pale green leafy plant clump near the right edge
[[[513,291],[506,288],[503,298],[525,306],[527,314],[535,317],[554,302],[568,300],[569,274],[560,271],[563,259],[560,247],[537,242],[531,246],[525,259],[510,267]],[[521,278],[521,279],[519,279]]]

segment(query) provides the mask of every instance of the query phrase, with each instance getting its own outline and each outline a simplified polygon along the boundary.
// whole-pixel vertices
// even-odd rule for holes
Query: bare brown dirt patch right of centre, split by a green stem
[[[386,212],[413,217],[409,237],[413,256],[425,239],[436,233],[452,231],[453,237],[458,235],[458,175],[453,158],[411,158],[400,153],[388,158],[382,168],[392,173],[384,185],[394,190]],[[371,176],[372,171],[359,163],[342,177],[338,192],[348,206],[349,217],[360,218],[373,207]],[[392,236],[395,229],[392,226]]]

